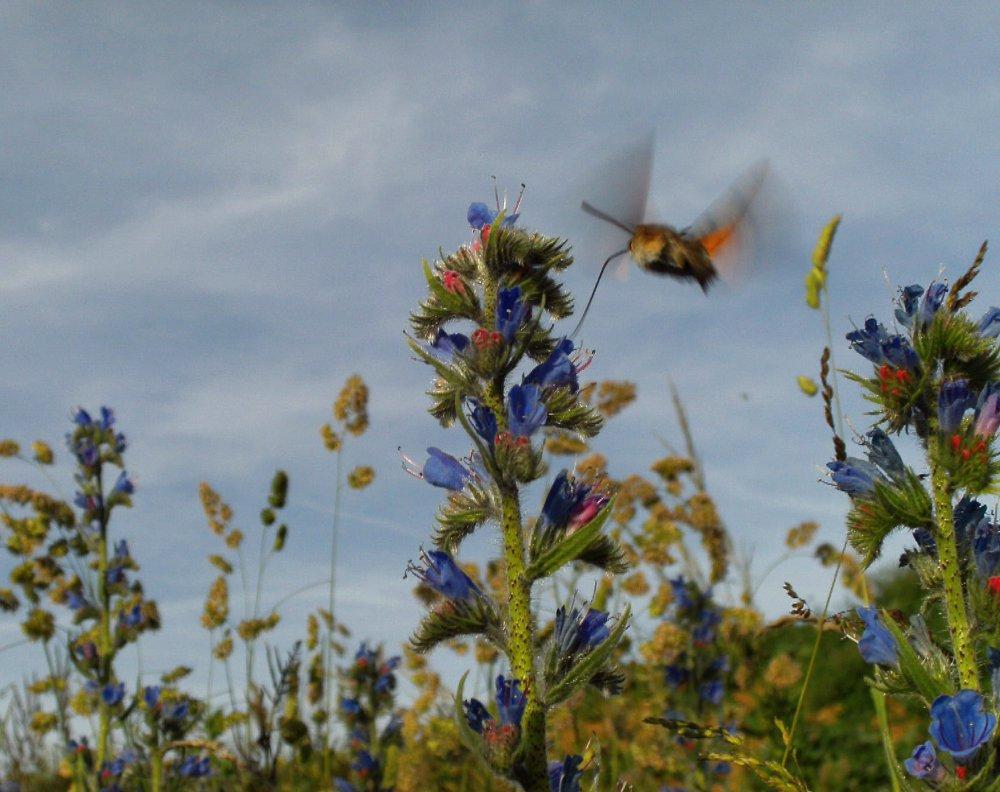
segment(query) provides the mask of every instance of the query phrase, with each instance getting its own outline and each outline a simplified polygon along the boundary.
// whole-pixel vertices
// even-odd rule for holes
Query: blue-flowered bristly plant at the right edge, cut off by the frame
[[[997,688],[983,674],[1000,646],[1000,586],[992,582],[1000,528],[977,500],[1000,484],[998,313],[991,308],[980,318],[966,311],[985,253],[984,244],[950,288],[933,282],[902,289],[893,326],[869,317],[847,335],[871,366],[847,376],[872,403],[875,425],[860,438],[863,457],[828,466],[833,484],[851,498],[848,538],[865,566],[900,528],[916,542],[901,563],[920,581],[921,612],[907,623],[875,607],[859,609],[863,631],[858,627],[856,636],[873,684],[926,705],[931,740],[913,749],[905,770],[911,782],[932,787],[986,789],[1000,781]],[[891,438],[903,433],[919,445],[916,467]],[[939,605],[945,624],[935,631],[928,623]],[[895,760],[891,765],[899,783],[903,770]]]

